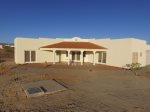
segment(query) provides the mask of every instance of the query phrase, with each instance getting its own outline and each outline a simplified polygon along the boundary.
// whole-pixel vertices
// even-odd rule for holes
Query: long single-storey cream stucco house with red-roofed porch
[[[22,38],[15,39],[15,63],[85,63],[124,67],[129,63],[150,64],[150,45],[145,40]]]

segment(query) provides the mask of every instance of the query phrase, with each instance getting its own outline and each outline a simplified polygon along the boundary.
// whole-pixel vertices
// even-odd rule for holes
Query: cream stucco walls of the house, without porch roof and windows
[[[54,44],[62,41],[81,41],[81,42],[92,42],[97,45],[107,48],[106,64],[111,66],[124,67],[126,64],[132,63],[132,53],[138,52],[139,63],[142,66],[146,65],[146,50],[150,50],[150,46],[146,44],[146,41],[126,38],[126,39],[80,39],[78,37],[72,39],[31,39],[31,38],[16,38],[15,39],[15,62],[17,64],[24,64],[24,51],[34,50],[36,51],[36,63],[41,62],[53,62],[53,52],[48,49],[42,51],[39,48],[41,46]],[[56,49],[57,50],[57,49]],[[66,57],[66,51],[68,49],[62,49],[61,61],[68,61]],[[66,51],[65,51],[66,50]],[[77,50],[77,49],[73,49]],[[79,51],[79,50],[77,50]],[[86,49],[85,49],[86,51]],[[94,49],[93,49],[94,51]],[[140,56],[142,54],[142,56]],[[98,53],[95,55],[95,62],[98,64]],[[59,62],[59,55],[55,54],[55,62]],[[88,51],[84,62],[93,63],[93,52]]]

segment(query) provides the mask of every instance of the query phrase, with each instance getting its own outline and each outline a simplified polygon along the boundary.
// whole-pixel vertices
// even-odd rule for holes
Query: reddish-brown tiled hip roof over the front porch
[[[59,42],[56,44],[42,46],[41,48],[75,48],[75,49],[106,49],[91,42]]]

